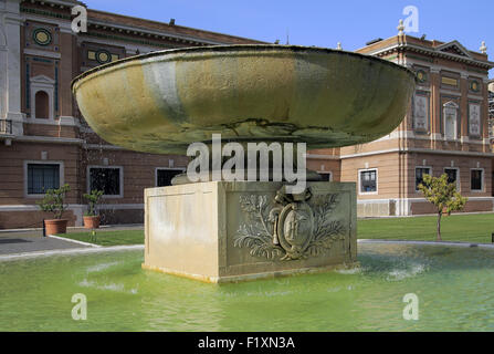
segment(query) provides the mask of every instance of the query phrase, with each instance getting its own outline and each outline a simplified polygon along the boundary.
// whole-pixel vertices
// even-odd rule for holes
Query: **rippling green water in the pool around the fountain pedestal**
[[[361,269],[213,285],[143,251],[0,263],[0,331],[494,331],[494,251],[359,244]],[[72,320],[73,294],[87,321]],[[419,321],[404,321],[404,294]]]

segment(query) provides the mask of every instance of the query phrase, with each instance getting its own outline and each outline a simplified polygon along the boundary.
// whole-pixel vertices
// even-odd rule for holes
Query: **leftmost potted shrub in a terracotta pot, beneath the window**
[[[44,220],[46,235],[60,235],[67,232],[69,220],[62,219],[63,212],[69,205],[65,204],[65,196],[71,190],[69,185],[63,185],[59,189],[49,189],[43,199],[38,201],[42,211],[52,212],[54,219]]]

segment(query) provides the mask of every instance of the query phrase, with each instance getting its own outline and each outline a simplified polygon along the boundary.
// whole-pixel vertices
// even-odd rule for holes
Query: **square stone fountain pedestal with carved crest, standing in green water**
[[[354,183],[213,181],[146,189],[145,269],[234,282],[351,266]]]

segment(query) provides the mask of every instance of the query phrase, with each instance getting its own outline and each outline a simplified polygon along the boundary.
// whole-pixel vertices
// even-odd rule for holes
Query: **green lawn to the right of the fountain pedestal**
[[[358,220],[359,239],[434,241],[437,216]],[[452,215],[443,217],[443,241],[491,243],[494,214]]]

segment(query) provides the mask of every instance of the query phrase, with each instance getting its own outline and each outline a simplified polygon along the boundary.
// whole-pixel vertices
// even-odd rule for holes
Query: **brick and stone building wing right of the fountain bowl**
[[[469,198],[464,211],[493,211],[487,84],[494,63],[485,49],[401,33],[357,52],[404,65],[418,77],[409,113],[395,132],[340,149],[339,180],[357,181],[358,215],[433,212],[417,188],[425,173],[448,174]]]

